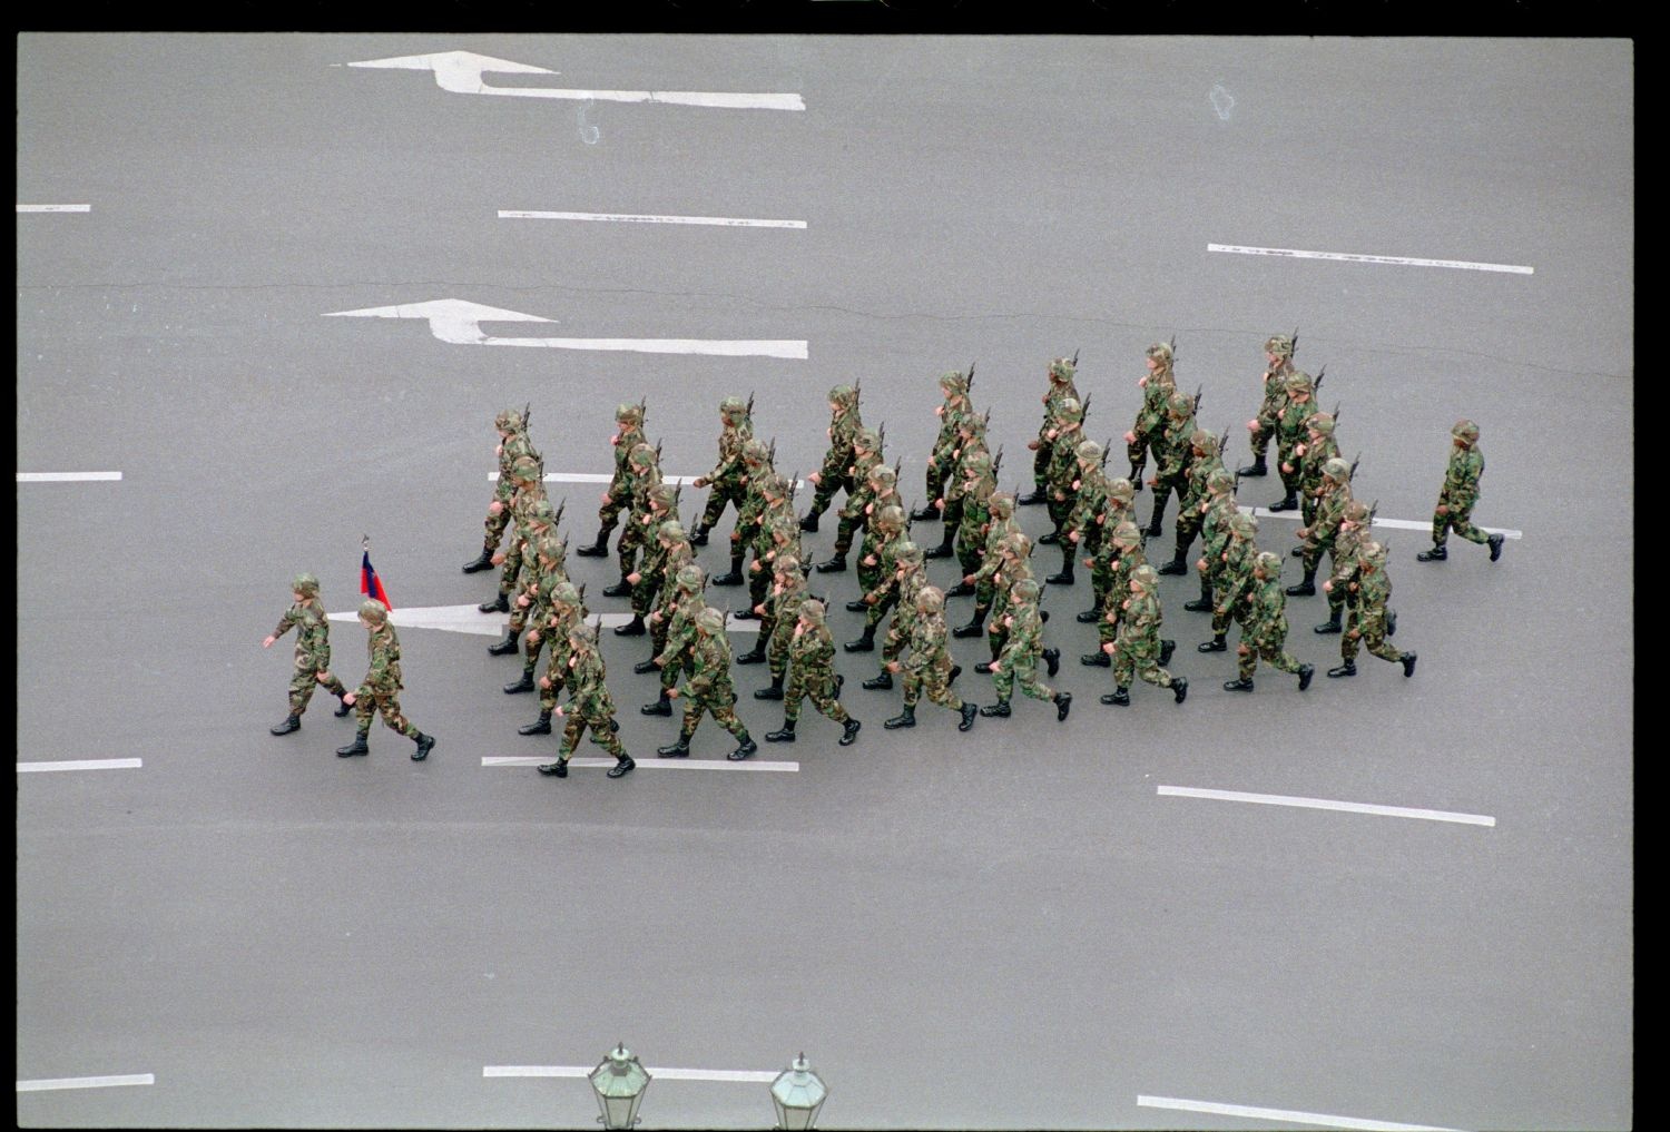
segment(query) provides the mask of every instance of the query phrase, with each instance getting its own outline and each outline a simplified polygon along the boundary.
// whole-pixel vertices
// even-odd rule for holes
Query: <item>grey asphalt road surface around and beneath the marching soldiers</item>
[[[556,72],[488,87],[805,109],[347,65],[446,52]],[[23,35],[17,62],[18,761],[140,763],[18,775],[20,1124],[595,1127],[586,1082],[489,1069],[625,1040],[716,1077],[805,1050],[825,1127],[1632,1125],[1633,483],[1607,471],[1635,454],[1630,43]],[[443,299],[549,322],[474,342],[324,317]],[[354,609],[369,534],[401,611],[491,593],[459,564],[506,406],[533,404],[548,471],[601,474],[615,404],[648,394],[663,467],[700,474],[720,397],[755,392],[777,467],[810,473],[827,391],[862,377],[918,503],[945,369],[979,362],[1014,488],[1050,357],[1079,351],[1102,439],[1176,336],[1241,462],[1261,344],[1294,326],[1363,454],[1356,494],[1416,526],[1379,533],[1411,680],[1364,654],[1304,695],[1268,666],[1226,693],[1234,654],[1196,653],[1194,584],[1167,578],[1189,698],[1137,683],[1107,708],[1109,675],[1075,663],[1080,569],[1045,594],[1062,725],[1017,698],[970,735],[927,703],[883,731],[898,693],[858,690],[875,656],[842,653],[855,746],[808,706],[758,756],[793,771],[725,763],[708,721],[713,770],[670,773],[675,721],[636,710],[648,644],[605,634],[640,770],[554,781],[483,761],[556,750],[516,735],[518,661],[407,628],[426,763],[381,723],[369,758],[334,758],[352,725],[327,696],[267,735],[291,639],[261,639],[297,571]],[[1416,564],[1463,416],[1488,459],[1475,518],[1515,538],[1496,564],[1460,539]],[[23,478],[95,471],[120,479]],[[576,543],[598,491],[551,484]],[[686,521],[703,499],[685,491]],[[1286,556],[1296,526],[1266,518],[1259,543]],[[1171,546],[1167,523],[1151,558]],[[591,594],[613,581],[571,564]],[[1324,614],[1289,601],[1319,668]],[[356,681],[362,631],[332,628]],[[738,670],[755,736],[780,721],[765,680]],[[665,1077],[645,1127],[772,1119],[763,1084]]]

